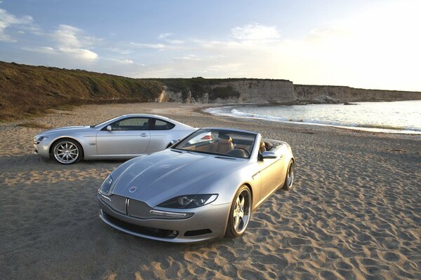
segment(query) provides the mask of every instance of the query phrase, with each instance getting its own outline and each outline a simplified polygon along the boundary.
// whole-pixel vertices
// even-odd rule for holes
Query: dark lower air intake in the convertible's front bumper
[[[163,230],[160,228],[148,228],[142,225],[135,225],[133,223],[127,223],[125,221],[121,221],[118,218],[115,218],[107,213],[104,212],[105,218],[111,222],[112,224],[118,226],[119,228],[123,228],[124,230],[128,230],[130,232],[135,232],[140,235],[147,235],[151,237],[159,237],[159,238],[168,238],[173,239],[178,236],[179,232],[177,230]]]

